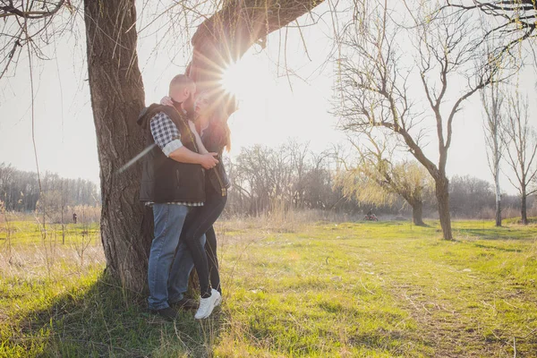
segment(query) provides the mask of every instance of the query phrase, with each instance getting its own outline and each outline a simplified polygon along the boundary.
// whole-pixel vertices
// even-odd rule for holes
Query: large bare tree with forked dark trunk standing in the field
[[[405,143],[435,181],[443,237],[452,240],[446,164],[453,121],[465,100],[490,84],[495,67],[481,74],[473,70],[483,58],[475,47],[479,29],[473,21],[445,14],[430,18],[430,13],[420,11],[417,4],[409,10],[413,26],[407,28],[414,43],[417,70],[405,68],[404,54],[409,48],[399,45],[399,34],[405,29],[393,20],[395,12],[388,10],[387,2],[368,4],[370,13],[362,16],[369,22],[349,27],[344,47],[351,55],[339,61],[341,102],[336,106],[343,119],[341,127],[347,132],[377,128],[394,133]],[[409,91],[409,81],[416,79],[424,92],[423,112],[415,109],[415,98]],[[458,89],[456,95],[447,94],[454,89]],[[436,132],[436,164],[423,152],[428,131]]]

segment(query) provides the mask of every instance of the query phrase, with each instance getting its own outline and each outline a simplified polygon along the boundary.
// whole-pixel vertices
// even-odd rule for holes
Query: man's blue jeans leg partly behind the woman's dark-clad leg
[[[200,237],[201,245],[205,245],[205,234]],[[184,294],[188,290],[188,279],[192,268],[194,268],[194,260],[192,253],[184,240],[179,241],[177,253],[175,253],[172,271],[168,280],[168,303],[176,303],[184,298]]]

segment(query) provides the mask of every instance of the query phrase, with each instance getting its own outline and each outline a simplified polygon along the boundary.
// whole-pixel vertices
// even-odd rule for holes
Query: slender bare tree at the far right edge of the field
[[[515,178],[508,176],[520,194],[522,224],[528,224],[526,200],[537,192],[531,183],[537,176],[537,132],[529,123],[528,100],[517,94],[509,98],[507,121],[504,126],[507,165]]]

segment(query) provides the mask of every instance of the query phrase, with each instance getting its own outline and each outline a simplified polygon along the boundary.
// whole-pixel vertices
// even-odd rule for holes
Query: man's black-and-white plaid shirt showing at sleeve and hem
[[[166,157],[170,157],[170,154],[177,149],[183,147],[181,142],[181,134],[174,124],[174,121],[166,115],[164,112],[158,112],[154,115],[150,121],[151,134],[155,140],[155,144],[158,148],[162,149]],[[146,205],[151,206],[154,203],[149,201]],[[186,205],[189,207],[202,207],[203,202],[190,202],[190,201],[176,201],[166,202],[166,204]]]

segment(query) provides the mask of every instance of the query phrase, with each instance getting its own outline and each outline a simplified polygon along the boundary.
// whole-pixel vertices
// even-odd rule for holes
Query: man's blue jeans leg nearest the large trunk
[[[192,208],[176,204],[154,204],[155,238],[149,251],[149,309],[169,307],[167,282],[175,258],[184,220]]]

